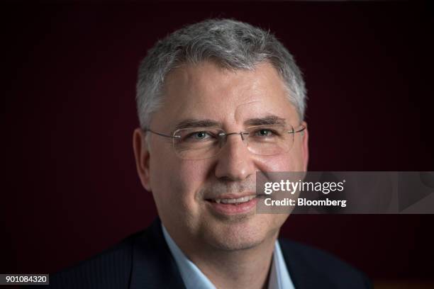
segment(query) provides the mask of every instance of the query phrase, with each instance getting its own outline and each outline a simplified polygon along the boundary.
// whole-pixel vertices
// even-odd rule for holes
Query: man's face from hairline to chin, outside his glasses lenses
[[[185,120],[211,120],[226,132],[244,131],[252,119],[270,117],[300,125],[269,63],[235,72],[213,62],[184,64],[167,76],[164,101],[150,128],[167,135]],[[307,131],[295,134],[289,152],[267,157],[252,154],[240,135],[228,136],[216,157],[195,160],[179,158],[169,138],[152,134],[148,140],[149,151],[142,142],[141,153],[136,152],[143,156],[140,178],[152,191],[163,224],[184,247],[235,250],[274,238],[287,215],[255,214],[255,200],[241,207],[215,199],[255,195],[257,171],[305,171],[308,159]]]

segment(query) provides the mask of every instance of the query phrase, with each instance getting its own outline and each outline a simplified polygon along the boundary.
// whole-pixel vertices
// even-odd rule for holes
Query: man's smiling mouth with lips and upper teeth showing
[[[262,195],[250,194],[247,196],[218,196],[218,198],[207,198],[206,201],[212,210],[223,215],[235,215],[250,212],[257,204],[258,198]]]

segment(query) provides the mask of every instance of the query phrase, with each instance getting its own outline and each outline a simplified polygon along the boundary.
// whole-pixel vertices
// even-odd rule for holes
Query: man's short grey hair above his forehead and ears
[[[162,86],[181,64],[213,60],[226,69],[255,69],[270,62],[288,90],[299,118],[304,119],[306,88],[294,57],[269,31],[230,19],[208,19],[174,31],[159,40],[140,63],[137,110],[140,127],[149,128],[152,113],[162,105]]]

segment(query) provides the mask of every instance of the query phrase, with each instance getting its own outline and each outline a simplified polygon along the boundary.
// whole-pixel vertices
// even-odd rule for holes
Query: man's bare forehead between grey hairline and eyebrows
[[[211,119],[223,125],[275,115],[290,123],[298,115],[272,64],[255,69],[223,69],[213,62],[184,64],[166,78],[164,104],[152,125],[172,127],[185,119]]]

